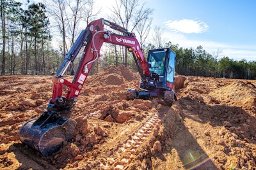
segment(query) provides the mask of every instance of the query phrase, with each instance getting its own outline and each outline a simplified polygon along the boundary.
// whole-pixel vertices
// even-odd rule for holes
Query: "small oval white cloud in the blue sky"
[[[202,32],[207,31],[208,25],[205,22],[200,20],[189,20],[189,19],[182,19],[182,20],[168,20],[164,22],[168,29],[174,32],[182,32],[186,34],[196,33],[200,34]]]

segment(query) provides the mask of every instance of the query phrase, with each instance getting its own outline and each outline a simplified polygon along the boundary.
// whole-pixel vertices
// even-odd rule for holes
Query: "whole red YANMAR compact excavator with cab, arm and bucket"
[[[112,31],[106,29],[109,27]],[[113,30],[119,34],[114,33]],[[170,48],[149,50],[146,60],[134,33],[100,18],[88,24],[65,55],[52,79],[52,98],[47,110],[39,118],[26,122],[20,128],[18,136],[22,143],[38,150],[44,156],[49,156],[59,150],[64,141],[73,138],[76,121],[70,118],[72,108],[77,102],[93,62],[100,57],[103,43],[125,46],[132,53],[141,80],[139,89],[127,90],[128,100],[158,98],[172,106],[176,99],[175,53]],[[79,52],[82,53],[79,66],[74,79],[70,82],[64,78],[64,74]],[[65,96],[63,96],[64,86],[68,89]]]

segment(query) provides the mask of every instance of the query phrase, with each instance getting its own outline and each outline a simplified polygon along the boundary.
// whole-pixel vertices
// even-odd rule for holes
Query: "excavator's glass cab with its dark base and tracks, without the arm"
[[[170,48],[149,50],[147,64],[150,76],[140,81],[140,89],[128,89],[127,99],[158,98],[172,106],[174,92],[175,53]]]

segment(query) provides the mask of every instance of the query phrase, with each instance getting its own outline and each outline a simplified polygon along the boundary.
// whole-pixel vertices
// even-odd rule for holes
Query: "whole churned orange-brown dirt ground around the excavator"
[[[17,132],[46,109],[51,79],[0,76],[0,169],[256,168],[255,81],[177,75],[170,108],[127,101],[139,74],[108,67],[86,80],[72,113],[74,139],[43,157]]]

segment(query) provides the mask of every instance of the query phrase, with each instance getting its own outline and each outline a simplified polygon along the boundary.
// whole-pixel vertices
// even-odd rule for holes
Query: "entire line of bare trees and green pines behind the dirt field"
[[[76,41],[79,32],[92,20],[99,18],[93,0],[45,0],[44,3],[26,4],[14,0],[1,0],[1,74],[52,74]],[[154,10],[138,0],[117,0],[109,10],[108,20],[113,20],[135,32],[147,57],[154,48],[172,48],[176,53],[176,72],[192,76],[256,79],[255,61],[233,60],[206,52],[202,46],[182,48],[163,38],[163,29],[152,25]],[[146,39],[150,43],[145,43]],[[102,47],[102,57],[91,73],[104,67],[124,64],[136,70],[134,59],[126,48],[118,45]],[[72,63],[68,74],[74,74],[79,60]]]

